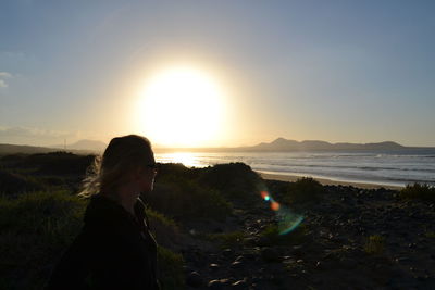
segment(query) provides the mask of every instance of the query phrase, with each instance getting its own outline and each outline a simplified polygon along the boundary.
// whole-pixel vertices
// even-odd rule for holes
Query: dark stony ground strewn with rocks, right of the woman
[[[221,225],[191,225],[203,242],[181,250],[188,289],[435,289],[434,204],[383,188],[325,189],[281,240],[262,234],[277,217],[261,199],[236,204]],[[223,245],[206,231],[240,237]]]

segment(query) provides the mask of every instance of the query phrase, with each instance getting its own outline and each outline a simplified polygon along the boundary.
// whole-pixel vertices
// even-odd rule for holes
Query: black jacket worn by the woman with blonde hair
[[[82,232],[54,269],[47,289],[159,289],[157,243],[138,199],[136,217],[96,194]]]

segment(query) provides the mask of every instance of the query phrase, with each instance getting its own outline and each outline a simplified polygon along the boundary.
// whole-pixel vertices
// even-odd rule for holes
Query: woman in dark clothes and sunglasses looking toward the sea
[[[157,243],[139,194],[157,174],[150,142],[113,138],[85,179],[90,197],[82,232],[63,255],[48,289],[159,289]]]

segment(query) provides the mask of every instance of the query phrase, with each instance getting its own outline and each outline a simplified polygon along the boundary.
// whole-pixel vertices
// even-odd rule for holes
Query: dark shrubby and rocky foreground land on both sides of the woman
[[[87,201],[75,193],[92,160],[0,157],[0,289],[44,287],[82,226]],[[263,180],[241,163],[163,164],[144,198],[164,289],[435,289],[435,189],[424,185],[368,190]],[[303,222],[278,235],[283,212]]]

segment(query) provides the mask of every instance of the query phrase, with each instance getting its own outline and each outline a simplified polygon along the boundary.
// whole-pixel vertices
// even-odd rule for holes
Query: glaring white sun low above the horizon
[[[200,147],[216,137],[223,118],[223,92],[203,71],[162,70],[141,92],[140,127],[154,143]]]

